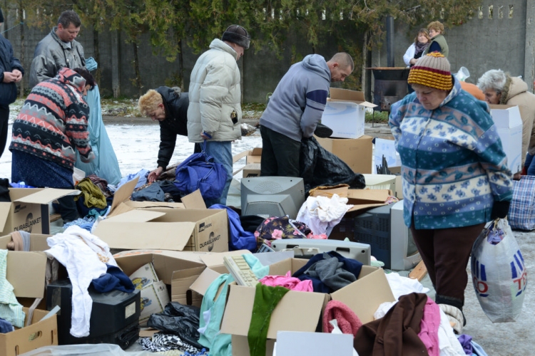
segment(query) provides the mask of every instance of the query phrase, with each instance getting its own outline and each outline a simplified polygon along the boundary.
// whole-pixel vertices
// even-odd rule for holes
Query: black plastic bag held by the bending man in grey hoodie
[[[314,137],[301,141],[300,177],[305,192],[321,186],[349,184],[352,189],[364,189],[364,176],[355,173],[342,159],[325,150]]]

